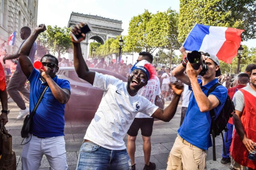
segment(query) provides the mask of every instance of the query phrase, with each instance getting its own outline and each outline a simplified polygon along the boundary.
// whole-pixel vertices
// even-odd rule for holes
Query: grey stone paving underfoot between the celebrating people
[[[166,106],[170,102],[166,102]],[[29,105],[27,105],[29,106]],[[6,129],[12,135],[12,144],[16,153],[17,160],[17,170],[21,170],[21,150],[20,145],[23,138],[20,136],[20,130],[23,125],[23,119],[16,120],[19,113],[19,108],[16,103],[9,99],[8,107],[10,113],[8,115],[9,122],[6,124]],[[181,103],[177,108],[177,113],[170,122],[163,122],[157,120],[154,122],[153,133],[151,136],[151,162],[156,164],[156,170],[165,170],[166,161],[169,155],[172,145],[175,142],[177,136],[177,129],[180,126],[180,113],[181,113]],[[67,164],[69,170],[75,170],[77,164],[78,151],[81,147],[81,143],[84,134],[89,126],[90,122],[66,122],[65,123],[65,142],[67,150]],[[125,144],[127,143],[127,136],[125,136]],[[212,147],[209,148],[207,154],[207,170],[229,170],[230,163],[221,164],[221,154],[222,154],[222,139],[217,137],[216,139],[216,157],[217,161],[212,160]],[[143,140],[139,132],[136,140],[136,153],[135,153],[135,163],[136,169],[142,170],[144,167],[144,156],[143,156]],[[40,170],[49,170],[50,166],[45,156],[41,161]]]

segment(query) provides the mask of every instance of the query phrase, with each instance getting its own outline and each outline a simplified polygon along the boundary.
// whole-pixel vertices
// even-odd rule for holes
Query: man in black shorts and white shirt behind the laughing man
[[[145,59],[146,61],[152,63],[153,56],[148,52],[140,52],[137,61],[141,61]],[[148,84],[145,85],[138,91],[138,94],[147,98],[151,103],[154,104],[158,95],[161,94],[160,90],[160,81],[157,76],[154,76],[152,79],[148,80]],[[143,139],[143,152],[144,152],[144,160],[145,166],[143,170],[154,170],[156,168],[156,164],[150,162],[150,154],[151,154],[151,142],[150,136],[153,131],[154,118],[145,115],[144,113],[137,113],[134,121],[131,124],[127,134],[128,134],[128,142],[127,142],[127,151],[131,159],[131,169],[136,170],[135,168],[135,150],[136,145],[135,141],[138,135],[139,129],[141,130],[141,135]]]

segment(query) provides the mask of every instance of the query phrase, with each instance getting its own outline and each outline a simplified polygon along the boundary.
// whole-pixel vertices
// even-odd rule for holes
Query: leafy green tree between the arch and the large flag
[[[164,54],[163,57],[169,59],[171,63],[173,51],[181,45],[177,41],[177,36],[177,11],[169,8],[166,11],[152,14],[145,10],[143,14],[133,17],[129,23],[125,51],[153,53],[159,48]],[[166,50],[169,52],[164,52]]]

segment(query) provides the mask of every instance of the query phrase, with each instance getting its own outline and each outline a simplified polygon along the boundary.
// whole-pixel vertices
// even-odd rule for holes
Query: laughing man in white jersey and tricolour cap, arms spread
[[[71,31],[73,34],[79,34],[81,30],[76,26]],[[84,136],[76,169],[131,169],[131,160],[123,138],[134,117],[141,112],[163,121],[170,121],[175,115],[183,85],[173,85],[174,99],[165,110],[162,110],[137,94],[139,89],[154,77],[154,67],[149,62],[142,60],[136,63],[131,68],[127,83],[109,75],[90,71],[81,54],[80,42],[85,39],[85,34],[82,36],[83,38],[78,41],[73,40],[71,36],[76,73],[94,87],[101,88],[104,94]]]

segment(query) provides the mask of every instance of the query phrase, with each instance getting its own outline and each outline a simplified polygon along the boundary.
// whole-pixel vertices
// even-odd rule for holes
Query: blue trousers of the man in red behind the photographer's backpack
[[[224,149],[222,153],[222,157],[226,159],[230,157],[230,145],[232,142],[232,134],[233,134],[233,125],[231,125],[230,123],[227,123],[227,132],[225,132],[224,134],[224,145],[225,145],[226,155],[224,154]],[[227,142],[226,142],[226,139],[227,139]]]

